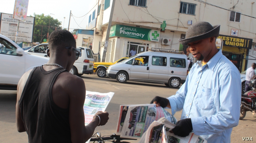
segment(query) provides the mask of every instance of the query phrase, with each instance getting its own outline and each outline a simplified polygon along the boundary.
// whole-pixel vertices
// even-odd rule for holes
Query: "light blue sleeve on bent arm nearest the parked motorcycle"
[[[222,83],[222,84],[221,84]],[[220,80],[220,109],[209,117],[192,117],[196,135],[211,135],[238,125],[241,104],[240,75],[231,71]]]

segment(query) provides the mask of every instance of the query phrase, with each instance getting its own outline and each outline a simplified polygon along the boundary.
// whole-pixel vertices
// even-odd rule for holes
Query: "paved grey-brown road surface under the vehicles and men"
[[[125,84],[118,83],[114,79],[98,78],[97,75],[83,75],[86,90],[100,93],[114,92],[115,95],[107,107],[109,112],[109,122],[105,126],[96,128],[102,135],[111,135],[117,126],[117,114],[121,104],[145,104],[149,103],[155,96],[169,97],[174,95],[177,89],[166,87],[162,83],[131,82]],[[26,132],[19,133],[15,124],[15,104],[17,91],[0,90],[0,142],[28,142]],[[168,109],[168,112],[171,112]],[[180,119],[181,111],[175,114],[177,120]],[[239,125],[233,128],[231,135],[232,143],[242,142],[242,137],[253,137],[256,141],[256,115],[247,112],[244,120],[239,121]],[[130,141],[136,143],[138,141]]]

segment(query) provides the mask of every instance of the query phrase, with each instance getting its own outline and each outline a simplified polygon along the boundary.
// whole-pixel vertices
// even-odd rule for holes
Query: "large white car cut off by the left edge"
[[[21,76],[48,62],[48,58],[31,55],[0,34],[0,89],[17,90]]]

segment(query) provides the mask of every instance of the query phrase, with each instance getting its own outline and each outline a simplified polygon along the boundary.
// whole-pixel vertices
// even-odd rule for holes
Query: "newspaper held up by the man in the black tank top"
[[[95,113],[98,111],[105,112],[113,95],[113,92],[98,93],[86,91],[84,102],[85,126],[92,121]]]

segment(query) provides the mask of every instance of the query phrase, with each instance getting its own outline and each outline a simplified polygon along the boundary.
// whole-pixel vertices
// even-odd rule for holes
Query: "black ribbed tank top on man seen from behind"
[[[69,109],[57,106],[52,98],[53,84],[64,71],[67,70],[45,71],[40,66],[29,74],[19,107],[30,143],[71,143]]]

